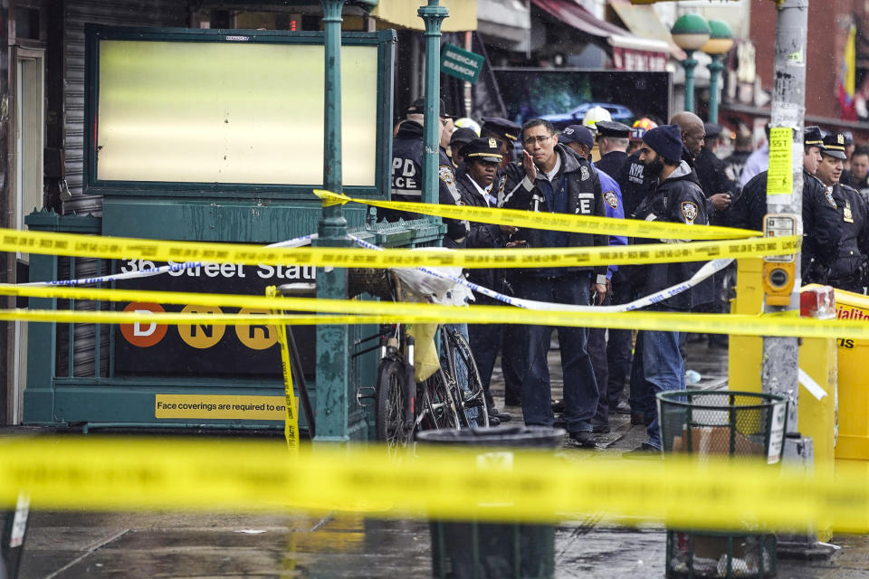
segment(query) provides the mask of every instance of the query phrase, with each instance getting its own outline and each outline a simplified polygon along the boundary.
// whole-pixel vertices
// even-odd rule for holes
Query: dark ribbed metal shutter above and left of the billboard
[[[72,199],[63,213],[96,214],[102,197],[81,195],[84,168],[84,24],[187,27],[186,2],[178,0],[66,0],[64,3],[63,78],[66,182]]]

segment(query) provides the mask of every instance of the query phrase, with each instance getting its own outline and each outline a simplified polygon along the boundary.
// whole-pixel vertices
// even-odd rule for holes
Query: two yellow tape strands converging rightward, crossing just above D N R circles
[[[135,321],[159,324],[263,324],[295,325],[374,323],[469,323],[538,324],[563,327],[611,327],[658,331],[683,331],[743,336],[853,337],[869,338],[863,320],[798,318],[798,312],[763,316],[635,311],[613,314],[597,311],[534,310],[504,306],[439,306],[409,302],[361,299],[266,298],[234,294],[197,294],[129,289],[35,287],[0,284],[0,295],[32,298],[61,298],[92,301],[196,304],[215,313],[137,313],[135,311],[0,310],[2,320],[59,323],[131,324]],[[253,308],[263,313],[224,314],[217,308]],[[308,311],[325,316],[268,313],[272,310]]]

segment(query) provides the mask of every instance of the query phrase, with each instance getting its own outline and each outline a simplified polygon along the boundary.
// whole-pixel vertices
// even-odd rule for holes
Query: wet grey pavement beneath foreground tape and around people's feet
[[[701,388],[727,386],[727,351],[689,343],[689,369]],[[496,373],[497,373],[496,366]],[[560,397],[558,352],[550,352],[553,397]],[[500,374],[493,380],[503,402]],[[499,404],[501,405],[501,404]],[[520,408],[504,410],[521,421]],[[574,460],[622,453],[645,440],[645,426],[625,414],[610,417],[612,432],[597,435],[598,451],[569,448]],[[664,577],[665,530],[628,527],[595,515],[556,528],[556,577]],[[781,579],[869,579],[869,537],[835,536],[829,559],[779,561]],[[20,579],[127,577],[407,577],[431,576],[425,521],[355,515],[239,515],[202,513],[34,512]]]

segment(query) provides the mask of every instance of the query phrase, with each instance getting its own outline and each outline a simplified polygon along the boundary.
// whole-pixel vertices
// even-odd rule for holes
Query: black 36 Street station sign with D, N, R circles
[[[142,271],[165,265],[147,260],[117,261],[119,272]],[[171,263],[169,264],[171,265]],[[267,286],[313,281],[314,268],[299,265],[244,266],[209,263],[181,271],[117,282],[119,289],[185,291],[265,295]],[[268,314],[265,309],[212,306],[120,303],[118,309],[145,316],[132,324],[119,324],[115,336],[115,372],[118,375],[165,376],[281,376],[277,329],[268,324],[224,325],[207,321],[208,314]],[[158,312],[200,314],[201,324],[167,326],[149,322]],[[314,328],[294,327],[302,365],[314,367]]]

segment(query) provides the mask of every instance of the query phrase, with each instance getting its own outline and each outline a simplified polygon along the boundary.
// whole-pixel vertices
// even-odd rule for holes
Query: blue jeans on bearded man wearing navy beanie
[[[634,368],[631,373],[631,397],[634,397],[635,379],[638,390],[649,396],[651,408],[644,404],[645,414],[654,413],[649,424],[647,444],[661,448],[661,424],[654,394],[685,389],[685,365],[679,353],[679,332],[654,332],[641,330],[636,336]],[[639,394],[639,393],[638,393]],[[646,401],[649,400],[646,398]],[[634,410],[632,401],[632,410]],[[646,402],[647,404],[647,402]],[[634,412],[637,412],[634,410]]]

